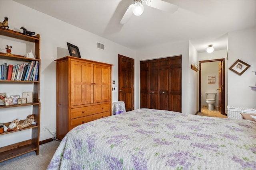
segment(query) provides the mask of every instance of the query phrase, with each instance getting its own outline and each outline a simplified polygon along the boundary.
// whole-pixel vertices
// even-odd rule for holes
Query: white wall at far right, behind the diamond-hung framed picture
[[[228,33],[228,68],[238,59],[250,64],[242,75],[228,70],[228,106],[256,108],[256,27]]]

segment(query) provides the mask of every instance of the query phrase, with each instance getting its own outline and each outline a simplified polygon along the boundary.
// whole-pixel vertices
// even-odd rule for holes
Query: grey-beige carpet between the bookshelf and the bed
[[[39,154],[29,152],[0,163],[0,170],[46,170],[60,140],[45,143],[39,146]]]

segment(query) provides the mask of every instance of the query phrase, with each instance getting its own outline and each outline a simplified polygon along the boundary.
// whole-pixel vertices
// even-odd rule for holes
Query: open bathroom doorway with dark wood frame
[[[225,59],[199,61],[199,109],[206,105],[206,92],[216,92],[215,109],[225,114]],[[209,75],[208,75],[209,74]]]

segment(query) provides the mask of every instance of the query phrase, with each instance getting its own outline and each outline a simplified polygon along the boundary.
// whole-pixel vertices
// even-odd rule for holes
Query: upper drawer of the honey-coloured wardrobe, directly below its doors
[[[78,107],[71,109],[71,119],[110,111],[110,104],[99,104],[94,106]]]

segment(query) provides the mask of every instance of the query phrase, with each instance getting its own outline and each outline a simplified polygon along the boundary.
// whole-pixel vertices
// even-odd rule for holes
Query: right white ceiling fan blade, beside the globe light
[[[178,10],[179,6],[170,4],[168,2],[162,1],[162,0],[145,0],[147,6],[151,6],[153,8],[156,8],[158,10],[162,10],[164,12],[168,13],[174,13]]]

